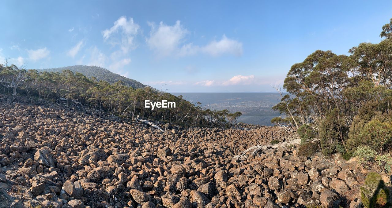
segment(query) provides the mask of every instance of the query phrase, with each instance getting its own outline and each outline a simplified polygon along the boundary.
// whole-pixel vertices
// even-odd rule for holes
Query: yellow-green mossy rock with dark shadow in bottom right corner
[[[365,184],[361,186],[363,205],[367,208],[387,207],[390,205],[388,198],[389,191],[385,187],[381,176],[375,172],[370,172],[365,179]]]

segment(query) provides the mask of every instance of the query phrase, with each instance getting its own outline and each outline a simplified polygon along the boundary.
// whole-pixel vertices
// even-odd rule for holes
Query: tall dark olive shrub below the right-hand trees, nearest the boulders
[[[336,153],[338,143],[344,142],[348,135],[348,126],[338,109],[327,114],[319,126],[321,151],[325,155]]]

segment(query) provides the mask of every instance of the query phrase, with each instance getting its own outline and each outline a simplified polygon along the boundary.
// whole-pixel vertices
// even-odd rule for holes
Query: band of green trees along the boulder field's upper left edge
[[[102,76],[105,76],[104,74]],[[0,91],[13,95],[38,97],[54,102],[66,102],[78,108],[102,109],[123,118],[153,118],[166,123],[191,126],[230,126],[241,113],[228,110],[209,110],[201,103],[191,103],[182,98],[152,89],[132,88],[123,81],[113,84],[89,79],[80,72],[38,72],[19,69],[15,65],[0,64]],[[145,100],[151,102],[176,102],[176,108],[145,108]]]

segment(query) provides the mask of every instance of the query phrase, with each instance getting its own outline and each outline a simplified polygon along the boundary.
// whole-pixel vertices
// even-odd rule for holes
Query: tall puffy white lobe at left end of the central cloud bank
[[[181,40],[188,33],[181,26],[179,20],[172,26],[165,25],[163,22],[160,22],[158,28],[156,28],[154,23],[149,23],[149,25],[151,31],[150,37],[146,39],[147,45],[160,57],[169,56],[173,52],[177,52]]]

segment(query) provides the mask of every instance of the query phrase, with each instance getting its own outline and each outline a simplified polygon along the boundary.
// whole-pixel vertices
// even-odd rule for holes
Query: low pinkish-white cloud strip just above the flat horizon
[[[247,76],[236,75],[229,80],[224,80],[224,81],[206,80],[206,81],[196,82],[195,84],[209,87],[209,86],[248,85],[248,84],[254,84],[255,81],[256,80],[254,75],[247,75]]]

